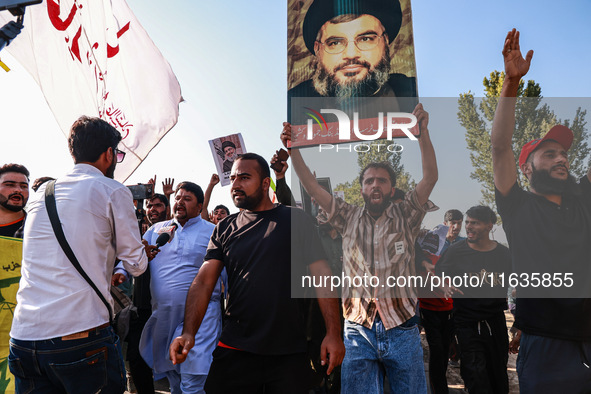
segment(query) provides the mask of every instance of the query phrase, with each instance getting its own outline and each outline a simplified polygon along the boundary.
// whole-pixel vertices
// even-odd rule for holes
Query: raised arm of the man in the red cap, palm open
[[[515,103],[519,81],[527,74],[533,54],[534,51],[530,50],[524,59],[519,48],[519,32],[513,29],[507,33],[503,45],[505,80],[491,132],[495,187],[504,196],[509,193],[517,181],[515,157],[513,156]]]

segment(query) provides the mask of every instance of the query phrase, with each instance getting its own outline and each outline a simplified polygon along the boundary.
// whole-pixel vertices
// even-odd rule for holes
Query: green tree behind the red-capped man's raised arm
[[[470,177],[482,186],[481,203],[491,207],[496,205],[490,131],[504,79],[505,73],[499,71],[493,71],[488,78],[485,77],[483,81],[485,96],[478,104],[471,92],[460,94],[458,99],[458,119],[466,129],[466,143],[470,150],[470,161],[473,167]],[[542,89],[533,80],[527,81],[527,84],[523,80],[519,82],[517,97],[519,98],[515,110],[513,134],[516,168],[521,147],[526,142],[542,137],[556,124],[564,124],[574,133],[573,145],[568,152],[570,171],[576,177],[583,176],[591,165],[589,157],[591,148],[587,143],[589,135],[585,120],[587,111],[579,107],[572,121],[558,119],[548,104],[542,104]],[[527,187],[527,179],[519,168],[517,170],[519,184]]]

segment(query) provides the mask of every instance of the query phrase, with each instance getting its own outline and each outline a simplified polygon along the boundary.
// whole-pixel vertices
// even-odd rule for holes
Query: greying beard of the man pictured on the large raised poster
[[[336,72],[352,64],[359,64],[367,68],[368,73],[365,78],[359,81],[351,79],[348,82],[339,82],[335,76]],[[332,71],[329,71],[316,59],[312,83],[321,96],[337,98],[371,97],[388,82],[389,77],[390,51],[386,45],[384,56],[374,70],[371,70],[371,64],[368,62],[352,59],[339,64]]]

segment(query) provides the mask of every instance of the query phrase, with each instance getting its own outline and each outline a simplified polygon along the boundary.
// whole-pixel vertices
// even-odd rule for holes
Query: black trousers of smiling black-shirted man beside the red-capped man
[[[505,314],[456,325],[460,344],[460,374],[470,394],[507,394],[509,337]]]

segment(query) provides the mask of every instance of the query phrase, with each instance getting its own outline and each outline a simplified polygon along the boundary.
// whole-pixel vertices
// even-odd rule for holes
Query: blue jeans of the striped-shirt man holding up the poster
[[[384,373],[392,393],[427,393],[423,349],[416,324],[386,330],[377,318],[371,329],[345,321],[343,394],[384,392]]]

